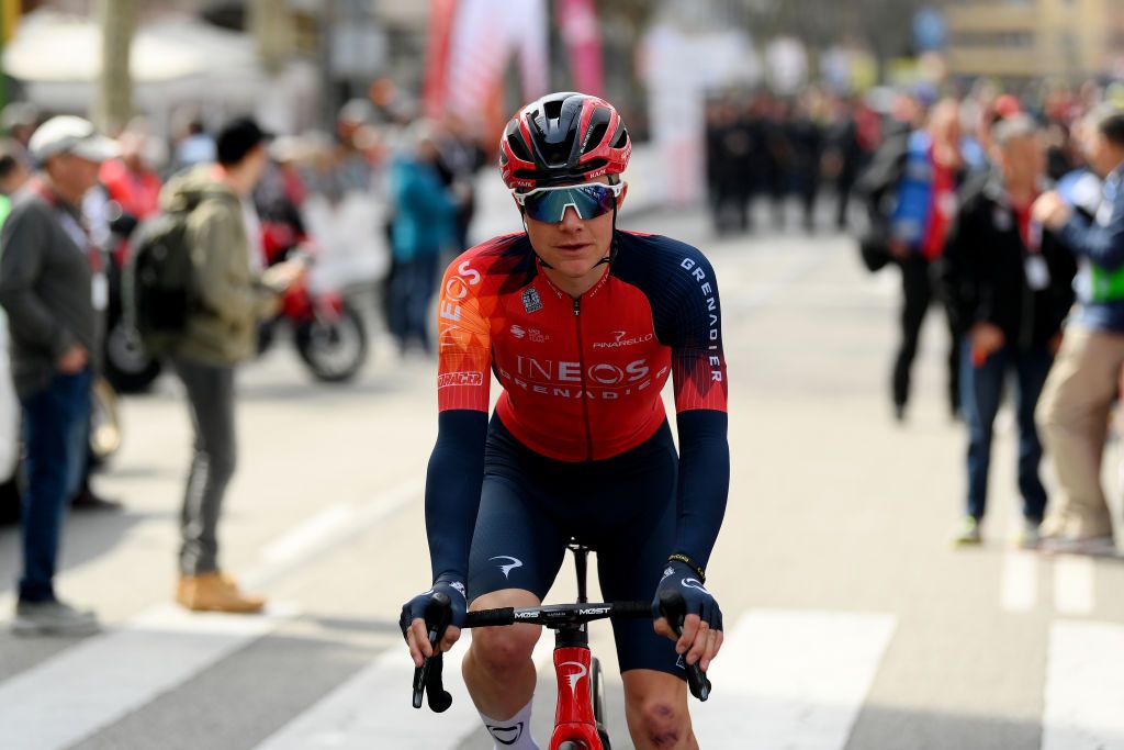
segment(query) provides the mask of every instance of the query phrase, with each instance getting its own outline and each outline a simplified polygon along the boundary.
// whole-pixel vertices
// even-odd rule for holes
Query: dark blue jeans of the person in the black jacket
[[[991,434],[1003,399],[1004,380],[1014,371],[1017,382],[1015,414],[1018,422],[1018,491],[1023,516],[1040,522],[1046,509],[1046,490],[1039,478],[1042,443],[1034,424],[1034,409],[1053,363],[1045,346],[1019,350],[1004,346],[980,365],[972,363],[971,344],[961,356],[964,416],[968,419],[968,515],[982,518],[987,509],[988,469],[991,464]]]

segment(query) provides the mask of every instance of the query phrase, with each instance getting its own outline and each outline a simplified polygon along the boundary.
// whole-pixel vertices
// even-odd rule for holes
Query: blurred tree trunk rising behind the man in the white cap
[[[101,22],[101,76],[94,103],[94,124],[105,133],[116,135],[133,116],[133,76],[129,72],[129,49],[136,29],[138,0],[99,0]]]

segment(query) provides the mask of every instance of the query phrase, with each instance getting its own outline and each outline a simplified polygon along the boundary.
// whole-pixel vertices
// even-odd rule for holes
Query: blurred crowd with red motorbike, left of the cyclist
[[[330,135],[279,137],[239,117],[189,123],[171,142],[137,119],[109,138],[26,103],[0,119],[0,521],[20,523],[15,630],[98,629],[55,595],[62,525],[70,507],[120,507],[89,479],[114,412],[101,376],[133,391],[162,368],[182,382],[194,433],[176,600],[261,609],[219,564],[235,371],[287,322],[316,378],[353,377],[372,310],[348,284],[375,292],[404,355],[430,355],[441,256],[468,246],[483,148],[456,117],[411,120],[368,100],[344,106]],[[315,288],[314,259],[362,265]]]

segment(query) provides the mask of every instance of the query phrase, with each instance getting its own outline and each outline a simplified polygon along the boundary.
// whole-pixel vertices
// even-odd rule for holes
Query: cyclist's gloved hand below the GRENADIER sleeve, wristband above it
[[[677,638],[667,618],[660,617],[660,597],[673,591],[683,597],[687,616]],[[659,617],[655,632],[676,641],[676,652],[683,654],[687,663],[699,662],[704,671],[710,668],[710,660],[722,649],[722,609],[710,591],[703,587],[698,575],[682,562],[672,561],[663,570],[663,579],[655,589],[652,609]]]

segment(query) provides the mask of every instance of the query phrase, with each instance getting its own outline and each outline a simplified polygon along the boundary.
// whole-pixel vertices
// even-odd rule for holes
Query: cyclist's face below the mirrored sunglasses
[[[608,184],[608,178],[598,182]],[[617,207],[624,195],[617,199]],[[609,254],[613,243],[613,213],[583,219],[573,207],[565,209],[561,222],[538,222],[526,217],[531,244],[551,268],[571,279],[600,277],[598,262]]]

